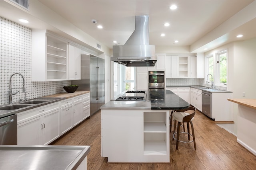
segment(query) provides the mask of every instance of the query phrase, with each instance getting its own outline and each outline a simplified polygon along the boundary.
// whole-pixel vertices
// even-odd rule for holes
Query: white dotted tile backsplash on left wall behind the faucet
[[[69,85],[70,81],[31,82],[30,28],[0,17],[0,31],[0,105],[9,103],[9,80],[14,73],[24,76],[27,99],[65,92],[62,87]],[[12,76],[13,92],[20,91],[13,96],[13,102],[24,99],[22,84],[20,75]]]

